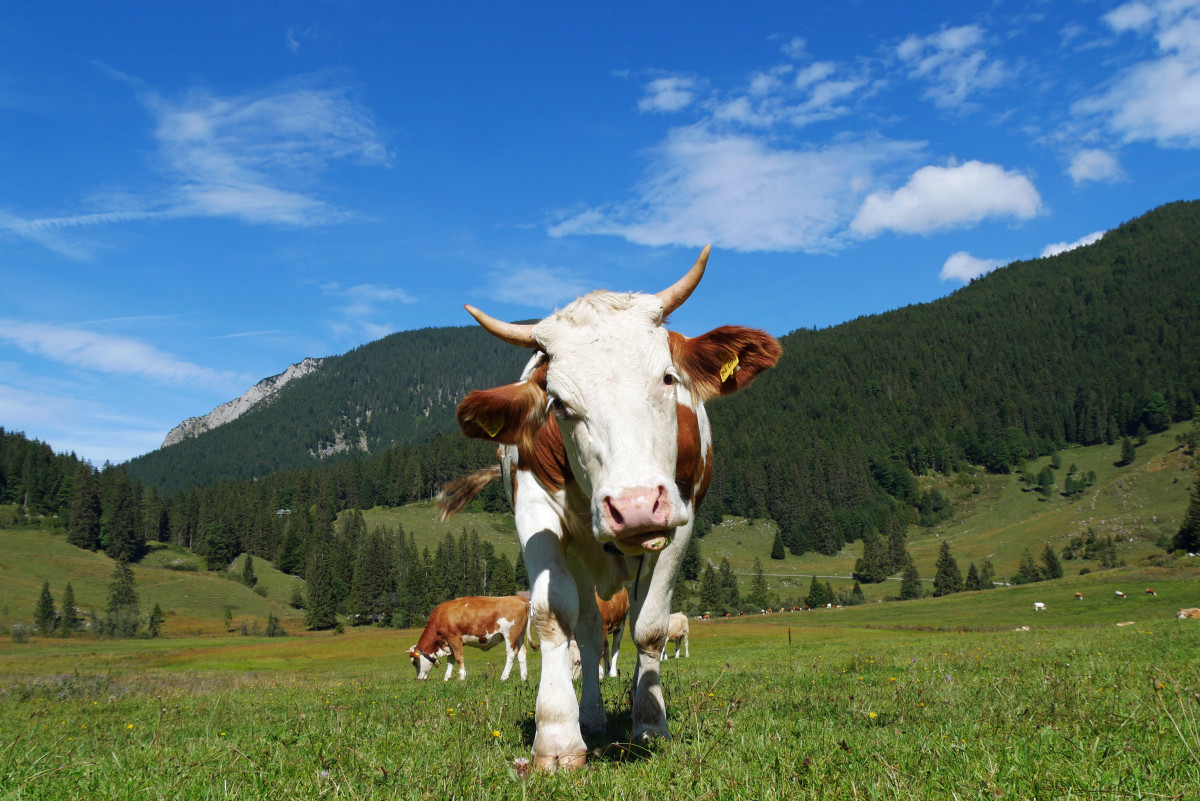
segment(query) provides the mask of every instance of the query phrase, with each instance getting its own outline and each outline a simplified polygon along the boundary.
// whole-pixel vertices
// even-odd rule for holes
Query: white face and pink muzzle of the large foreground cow
[[[548,355],[546,403],[592,530],[623,552],[661,550],[691,519],[676,486],[677,392],[662,303],[593,293],[534,329]]]

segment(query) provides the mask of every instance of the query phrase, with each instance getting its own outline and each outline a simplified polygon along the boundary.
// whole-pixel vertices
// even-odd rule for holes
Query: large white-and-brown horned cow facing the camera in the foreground
[[[466,307],[492,335],[533,351],[516,384],[472,392],[458,405],[462,432],[497,442],[500,465],[448,484],[442,514],[503,478],[541,642],[539,770],[582,767],[582,731],[605,728],[594,596],[612,597],[626,582],[637,648],[632,740],[667,736],[659,661],[679,561],[713,470],[704,402],[745,389],[781,353],[754,329],[721,326],[689,338],[665,327],[696,289],[708,255],[706,246],[658,294],[594,291],[535,324]],[[572,636],[583,658],[578,700]]]

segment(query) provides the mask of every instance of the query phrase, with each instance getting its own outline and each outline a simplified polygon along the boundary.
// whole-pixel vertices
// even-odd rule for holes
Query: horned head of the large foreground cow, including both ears
[[[593,534],[625,554],[661,550],[691,519],[679,456],[680,445],[700,447],[696,402],[740,390],[779,359],[762,331],[725,326],[689,339],[664,327],[707,261],[708,247],[656,295],[595,291],[533,325],[467,306],[491,333],[539,356],[524,380],[462,402],[463,433],[517,446],[523,466],[560,438],[563,477],[590,499]]]

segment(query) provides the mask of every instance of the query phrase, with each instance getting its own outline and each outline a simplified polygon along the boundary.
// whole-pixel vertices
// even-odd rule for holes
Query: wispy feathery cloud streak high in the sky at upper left
[[[41,217],[0,212],[0,234],[86,260],[94,246],[67,229],[181,217],[295,227],[344,222],[355,212],[323,199],[318,176],[338,162],[389,163],[371,113],[326,76],[258,94],[196,90],[170,98],[106,72],[137,86],[150,113],[154,185],[122,194],[119,209]]]

